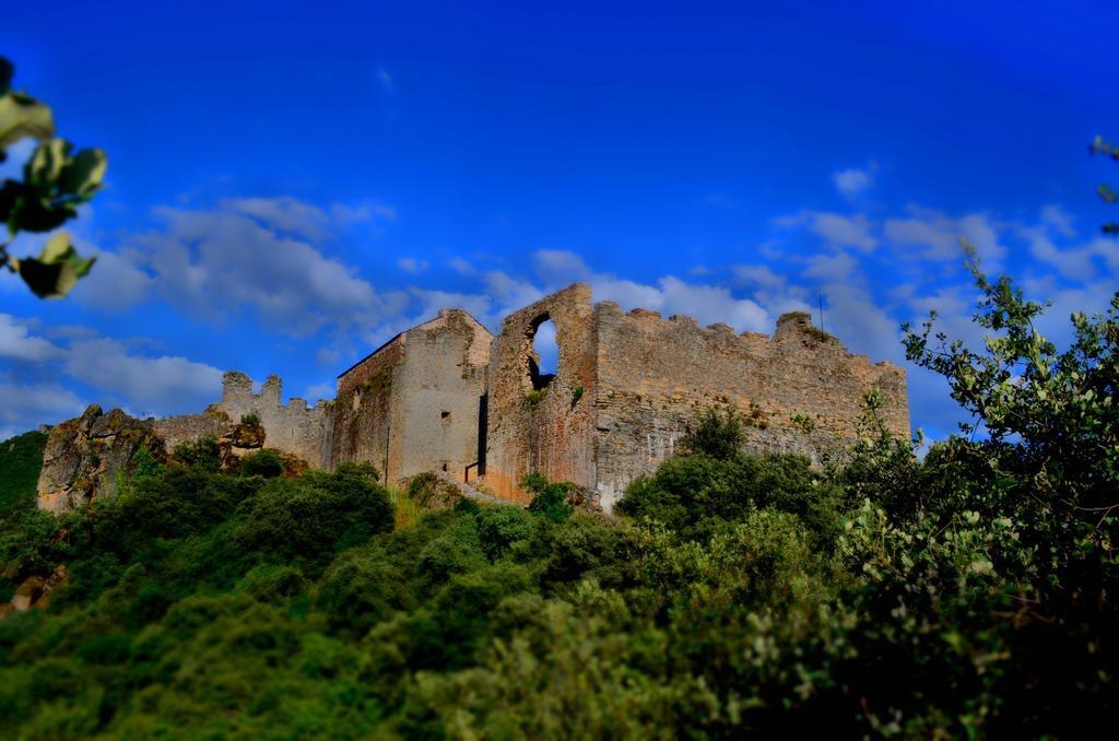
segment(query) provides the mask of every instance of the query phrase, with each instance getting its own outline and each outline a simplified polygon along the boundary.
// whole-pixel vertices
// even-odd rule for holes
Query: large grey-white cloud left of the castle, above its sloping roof
[[[295,336],[327,322],[369,325],[392,309],[389,296],[316,245],[347,225],[392,221],[395,212],[387,206],[320,208],[282,196],[152,213],[161,227],[129,237],[115,252],[101,251],[75,289],[78,302],[119,311],[158,293],[211,321],[254,310],[266,328]],[[415,260],[414,266],[426,263]]]

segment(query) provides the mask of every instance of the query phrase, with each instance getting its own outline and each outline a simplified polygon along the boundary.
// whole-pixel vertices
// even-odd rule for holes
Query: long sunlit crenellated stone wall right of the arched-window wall
[[[888,429],[908,438],[905,375],[848,353],[808,315],[778,320],[772,338],[699,328],[690,317],[595,307],[596,489],[610,506],[676,448],[697,412],[731,406],[747,420],[745,448],[819,461],[848,445],[866,394],[878,390]],[[801,418],[794,421],[793,418]]]

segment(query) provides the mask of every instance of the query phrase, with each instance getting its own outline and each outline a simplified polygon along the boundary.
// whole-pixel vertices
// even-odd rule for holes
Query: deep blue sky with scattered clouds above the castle
[[[17,87],[110,171],[69,299],[0,275],[0,438],[197,411],[224,369],[330,397],[441,306],[496,328],[574,280],[739,330],[822,297],[895,363],[930,309],[978,339],[959,236],[1057,336],[1104,308],[1093,189],[1119,177],[1087,144],[1119,138],[1119,7],[779,4],[7,8]],[[953,429],[939,379],[910,392]]]

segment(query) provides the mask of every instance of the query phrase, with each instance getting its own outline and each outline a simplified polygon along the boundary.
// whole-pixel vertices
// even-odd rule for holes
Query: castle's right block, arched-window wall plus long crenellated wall
[[[542,397],[529,395],[529,357],[545,319],[556,326],[560,359]],[[488,390],[487,486],[517,498],[517,481],[537,471],[595,491],[606,509],[670,456],[709,406],[746,416],[750,450],[818,460],[852,442],[866,394],[876,390],[887,428],[910,434],[904,372],[848,353],[807,315],[781,317],[772,338],[736,335],[722,323],[699,328],[690,317],[592,306],[581,284],[505,320]]]

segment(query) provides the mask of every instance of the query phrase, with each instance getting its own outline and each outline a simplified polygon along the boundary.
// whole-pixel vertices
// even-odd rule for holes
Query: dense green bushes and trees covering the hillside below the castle
[[[845,466],[747,457],[709,411],[619,518],[469,500],[398,518],[368,466],[145,463],[26,510],[0,707],[27,738],[1075,735],[1119,710],[1119,296],[1073,318],[988,284],[976,354],[910,331],[978,434]],[[728,444],[728,441],[732,444]]]

